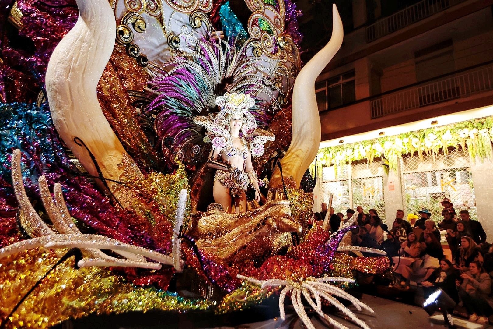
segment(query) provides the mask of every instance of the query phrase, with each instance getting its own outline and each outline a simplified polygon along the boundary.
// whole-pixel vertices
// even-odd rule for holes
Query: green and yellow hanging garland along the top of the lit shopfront
[[[390,170],[397,170],[399,159],[405,154],[416,152],[421,160],[424,154],[435,156],[440,150],[445,154],[448,147],[461,146],[469,152],[471,159],[492,156],[493,117],[462,121],[447,126],[433,127],[400,135],[386,136],[359,143],[331,146],[318,151],[318,163],[326,167],[352,163],[367,159],[373,162],[384,157]],[[311,167],[315,169],[314,164]]]

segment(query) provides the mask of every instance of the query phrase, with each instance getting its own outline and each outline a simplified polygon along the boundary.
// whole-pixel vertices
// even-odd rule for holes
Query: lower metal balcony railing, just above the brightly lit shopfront
[[[391,93],[370,101],[371,118],[421,108],[493,89],[493,65]]]

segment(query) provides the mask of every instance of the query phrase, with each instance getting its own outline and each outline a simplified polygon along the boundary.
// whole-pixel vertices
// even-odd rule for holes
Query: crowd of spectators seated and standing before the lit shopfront
[[[407,290],[411,284],[421,286],[425,298],[441,288],[463,305],[469,320],[487,324],[488,317],[493,315],[490,276],[493,275],[493,247],[486,243],[481,223],[470,219],[467,210],[459,211],[457,218],[450,200],[444,199],[442,205],[440,221],[431,219],[427,209],[419,211],[418,219],[408,221],[399,209],[390,228],[382,223],[375,209],[366,213],[358,206],[354,223],[358,228],[348,232],[344,242],[385,250],[393,263],[394,287]],[[327,214],[326,204],[322,205],[322,211],[321,219],[314,215],[320,225]],[[347,209],[345,213],[346,216],[330,208],[328,229],[339,230],[355,211]],[[440,231],[450,248],[449,258],[445,256]],[[386,239],[384,232],[387,232]]]

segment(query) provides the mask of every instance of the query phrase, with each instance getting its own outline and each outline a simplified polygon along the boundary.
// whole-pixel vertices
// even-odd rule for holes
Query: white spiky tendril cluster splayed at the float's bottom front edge
[[[243,275],[238,275],[239,279],[246,280],[250,283],[259,285],[261,288],[267,287],[279,287],[283,286],[284,288],[281,291],[279,296],[279,311],[281,313],[282,320],[285,319],[284,313],[284,299],[288,292],[291,292],[291,301],[294,306],[294,310],[300,317],[303,324],[308,329],[315,329],[312,321],[308,317],[308,314],[305,311],[303,306],[303,302],[301,300],[301,295],[305,297],[310,306],[317,312],[317,314],[327,321],[327,323],[338,329],[348,329],[348,327],[344,326],[340,322],[332,319],[328,315],[322,312],[322,298],[327,300],[329,304],[334,305],[337,309],[339,309],[345,316],[350,318],[354,323],[360,326],[363,329],[370,329],[368,325],[366,325],[362,320],[360,320],[349,308],[344,306],[341,302],[339,302],[335,297],[342,297],[349,300],[354,307],[358,311],[361,309],[365,309],[374,313],[373,309],[368,305],[360,302],[356,297],[352,296],[348,292],[345,292],[339,287],[328,284],[327,282],[348,282],[354,283],[353,279],[344,278],[344,277],[322,277],[322,278],[307,278],[302,282],[293,282],[291,280],[282,280],[282,279],[270,279],[270,280],[257,280],[255,278],[246,277]],[[314,300],[315,299],[315,302]]]

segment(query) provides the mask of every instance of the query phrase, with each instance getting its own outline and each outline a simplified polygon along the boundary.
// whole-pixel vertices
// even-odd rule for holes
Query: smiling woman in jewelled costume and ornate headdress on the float
[[[236,212],[246,211],[245,192],[250,186],[255,189],[255,201],[260,201],[259,182],[251,157],[261,156],[263,144],[275,137],[257,128],[249,111],[255,105],[255,99],[249,95],[225,93],[216,98],[216,104],[218,113],[194,119],[207,130],[204,141],[212,143],[208,165],[217,169],[213,184],[214,201],[226,212],[232,209],[233,204]]]

